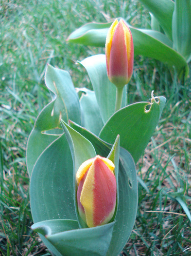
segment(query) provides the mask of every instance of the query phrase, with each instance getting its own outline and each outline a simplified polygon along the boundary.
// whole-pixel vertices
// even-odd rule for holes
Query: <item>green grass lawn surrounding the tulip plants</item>
[[[74,62],[103,49],[66,43],[89,21],[124,17],[148,27],[138,1],[0,0],[0,254],[50,255],[32,232],[25,151],[35,118],[50,96],[47,63],[68,70],[75,86],[89,86]],[[80,81],[80,82],[79,82]],[[135,58],[129,103],[151,91],[167,104],[137,165],[139,209],[122,255],[191,255],[191,84],[181,84],[164,64]]]

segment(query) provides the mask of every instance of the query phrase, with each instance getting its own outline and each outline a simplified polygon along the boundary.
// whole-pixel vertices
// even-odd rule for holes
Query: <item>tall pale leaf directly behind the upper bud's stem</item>
[[[116,99],[116,87],[107,77],[105,55],[94,55],[79,63],[87,70],[100,108],[102,120],[105,123],[114,113]],[[122,106],[125,106],[125,97],[124,89]]]

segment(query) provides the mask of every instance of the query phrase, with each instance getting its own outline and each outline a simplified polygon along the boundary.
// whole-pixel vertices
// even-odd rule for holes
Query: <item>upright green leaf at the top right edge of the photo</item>
[[[175,0],[173,43],[174,49],[191,61],[191,0]]]

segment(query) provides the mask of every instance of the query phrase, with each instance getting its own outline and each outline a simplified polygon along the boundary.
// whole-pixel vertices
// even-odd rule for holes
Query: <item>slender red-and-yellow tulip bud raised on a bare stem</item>
[[[131,31],[123,20],[115,20],[106,37],[107,76],[117,87],[127,84],[133,74],[134,47]]]

